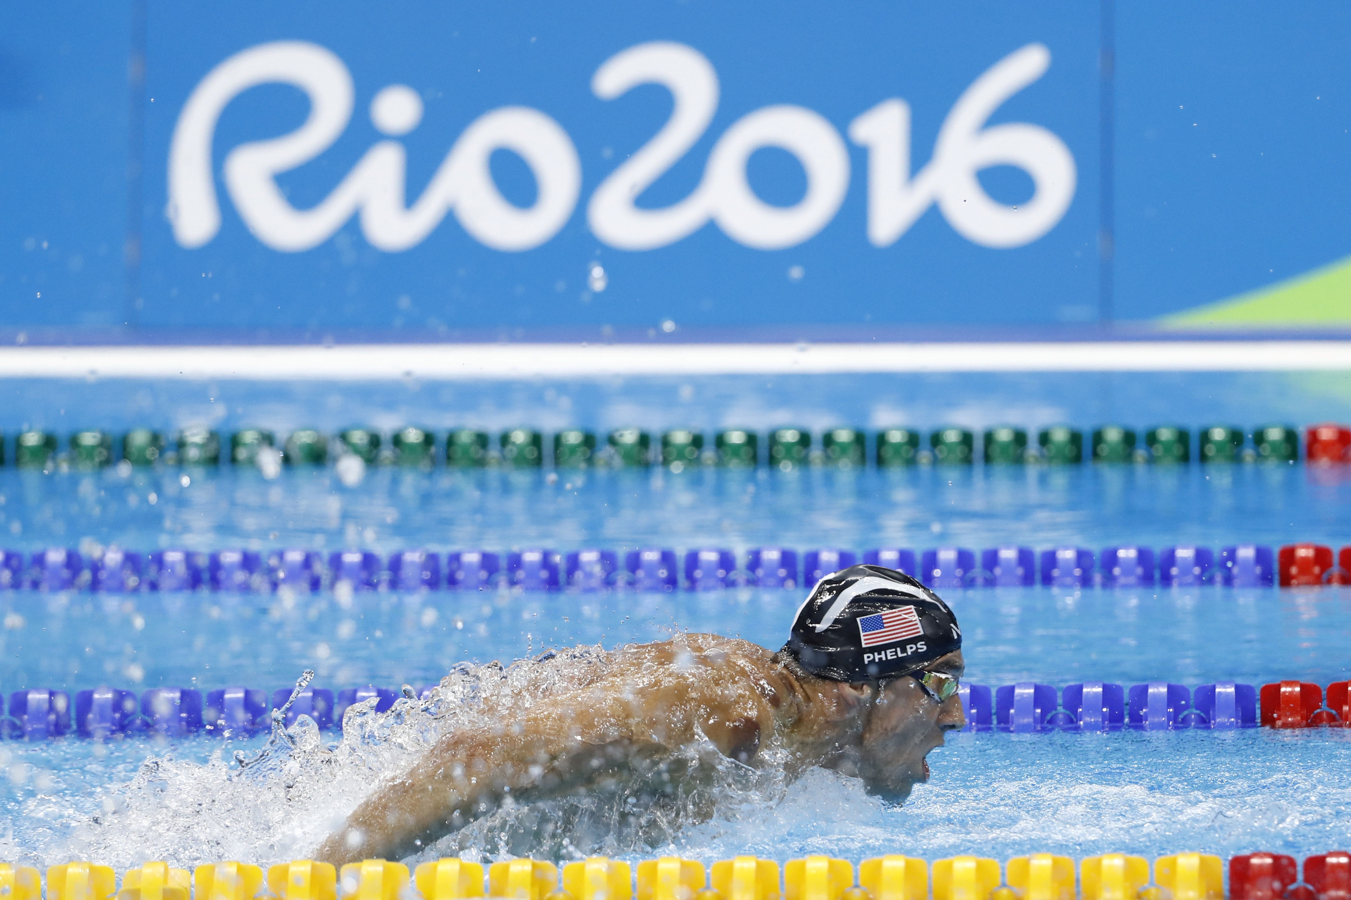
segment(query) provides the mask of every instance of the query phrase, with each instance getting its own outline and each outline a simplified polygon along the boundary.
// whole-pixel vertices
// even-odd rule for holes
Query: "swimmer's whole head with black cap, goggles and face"
[[[821,579],[782,653],[857,702],[862,730],[836,768],[858,775],[869,793],[904,800],[928,779],[929,750],[966,723],[957,694],[965,671],[957,617],[901,572],[854,565]]]

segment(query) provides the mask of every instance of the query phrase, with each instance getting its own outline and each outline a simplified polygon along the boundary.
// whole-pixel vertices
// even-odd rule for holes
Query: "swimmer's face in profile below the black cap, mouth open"
[[[966,663],[954,650],[924,668],[961,677]],[[863,729],[859,776],[867,792],[894,803],[908,797],[916,781],[928,780],[928,752],[965,725],[959,694],[939,703],[908,675],[886,681]]]

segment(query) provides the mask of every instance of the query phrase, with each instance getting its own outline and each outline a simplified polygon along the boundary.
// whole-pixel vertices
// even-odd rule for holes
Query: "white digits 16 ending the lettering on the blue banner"
[[[934,143],[934,158],[911,171],[911,108],[884,100],[848,128],[867,147],[867,237],[877,247],[894,243],[928,206],[959,235],[984,247],[1021,247],[1055,227],[1074,198],[1074,157],[1046,128],[1024,123],[981,127],[998,107],[1051,65],[1051,53],[1032,43],[997,62],[958,99]],[[1032,177],[1035,193],[1021,208],[996,202],[975,173],[1017,166]]]

